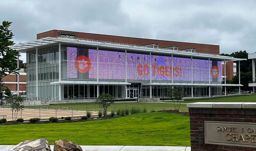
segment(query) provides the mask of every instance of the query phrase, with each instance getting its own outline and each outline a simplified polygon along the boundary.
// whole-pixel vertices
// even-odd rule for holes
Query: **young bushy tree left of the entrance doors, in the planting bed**
[[[99,97],[96,99],[96,103],[99,104],[99,107],[103,108],[103,116],[107,117],[107,108],[111,104],[115,102],[113,96],[110,94],[101,94]]]

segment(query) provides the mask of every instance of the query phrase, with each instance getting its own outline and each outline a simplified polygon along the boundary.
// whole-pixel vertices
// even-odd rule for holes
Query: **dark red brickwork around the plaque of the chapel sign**
[[[204,121],[256,122],[256,109],[189,109],[191,151],[256,151],[204,143]]]

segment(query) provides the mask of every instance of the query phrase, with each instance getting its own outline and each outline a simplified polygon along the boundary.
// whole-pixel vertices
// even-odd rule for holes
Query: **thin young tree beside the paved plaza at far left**
[[[11,99],[8,100],[11,110],[12,110],[12,112],[14,112],[13,121],[14,120],[16,121],[18,112],[20,110],[24,110],[24,106],[22,105],[24,100],[25,100],[25,97],[21,97],[21,96],[13,96]]]

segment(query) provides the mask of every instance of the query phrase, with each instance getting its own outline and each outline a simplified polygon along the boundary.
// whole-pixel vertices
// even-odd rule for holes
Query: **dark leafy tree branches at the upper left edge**
[[[11,39],[13,38],[13,32],[9,30],[12,22],[3,21],[3,25],[0,26],[0,81],[6,75],[11,73],[19,74],[16,68],[17,56],[19,52],[10,49],[9,46],[14,45]]]

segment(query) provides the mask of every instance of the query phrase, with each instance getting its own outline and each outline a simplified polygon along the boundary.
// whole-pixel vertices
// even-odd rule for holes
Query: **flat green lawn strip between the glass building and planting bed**
[[[71,106],[72,104],[72,106]],[[115,103],[116,111],[118,109],[131,109],[133,108],[146,108],[148,112],[151,111],[161,111],[164,109],[175,109],[173,103]],[[47,106],[55,106],[55,105],[47,105]],[[56,106],[61,107],[72,107],[73,111],[79,110],[79,111],[86,111],[86,103],[78,103],[77,105],[75,103],[67,103],[67,104],[56,104]],[[26,106],[25,108],[29,108],[29,106]],[[35,106],[30,106],[30,109],[34,109]],[[51,108],[52,109],[52,108]],[[94,103],[87,103],[87,109],[88,111],[95,111],[95,104]],[[108,107],[108,111],[112,111],[114,109],[114,105],[111,105]],[[99,108],[99,105],[96,105],[96,111],[100,111],[101,108]],[[188,108],[185,104],[181,104],[181,111],[188,112]],[[103,111],[103,110],[102,110]]]

